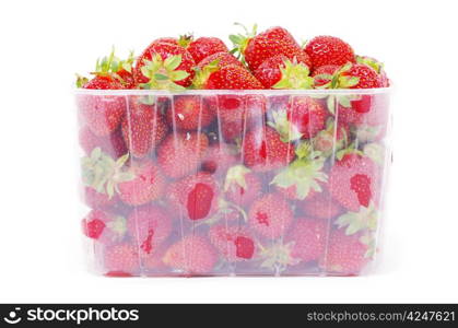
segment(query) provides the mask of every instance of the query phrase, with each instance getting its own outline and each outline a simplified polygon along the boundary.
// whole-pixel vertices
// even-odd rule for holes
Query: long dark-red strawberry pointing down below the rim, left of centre
[[[130,153],[139,159],[151,153],[167,134],[167,125],[156,106],[138,97],[129,99],[129,110],[121,126]]]

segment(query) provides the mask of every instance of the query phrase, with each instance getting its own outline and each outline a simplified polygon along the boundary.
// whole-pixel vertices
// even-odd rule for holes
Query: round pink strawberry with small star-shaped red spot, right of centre
[[[259,235],[270,239],[283,236],[292,221],[291,206],[278,194],[265,195],[249,209],[249,225]]]

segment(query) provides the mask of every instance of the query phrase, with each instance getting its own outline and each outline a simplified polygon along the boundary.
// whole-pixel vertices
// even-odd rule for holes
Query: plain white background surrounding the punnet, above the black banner
[[[458,302],[456,1],[1,1],[0,302]],[[344,38],[396,84],[395,164],[378,273],[106,279],[80,238],[75,72],[117,45],[233,22]]]

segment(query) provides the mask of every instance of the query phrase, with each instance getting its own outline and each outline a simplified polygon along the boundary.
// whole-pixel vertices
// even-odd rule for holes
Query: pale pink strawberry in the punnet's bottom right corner
[[[348,236],[343,231],[332,231],[327,251],[320,259],[320,267],[328,273],[343,276],[359,274],[371,260],[369,247],[359,235]]]

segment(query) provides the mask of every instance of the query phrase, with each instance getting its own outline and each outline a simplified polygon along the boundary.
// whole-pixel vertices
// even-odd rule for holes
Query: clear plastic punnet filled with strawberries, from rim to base
[[[91,268],[369,272],[391,161],[389,93],[77,90]]]

